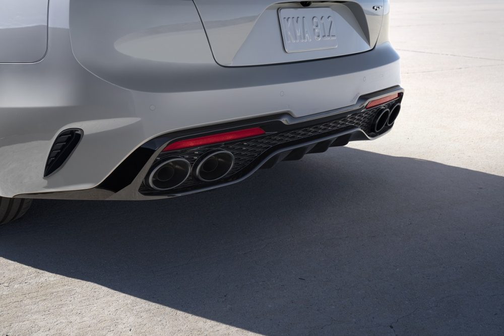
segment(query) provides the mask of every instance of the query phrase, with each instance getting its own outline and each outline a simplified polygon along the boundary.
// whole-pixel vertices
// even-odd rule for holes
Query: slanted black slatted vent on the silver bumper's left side
[[[68,160],[83,136],[82,129],[65,129],[57,136],[45,164],[44,177],[58,170]]]

